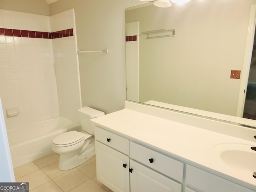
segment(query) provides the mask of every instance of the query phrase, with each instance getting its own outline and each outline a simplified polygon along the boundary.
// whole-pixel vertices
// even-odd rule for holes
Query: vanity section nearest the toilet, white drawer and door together
[[[95,127],[97,180],[114,192],[130,192],[129,140]]]

